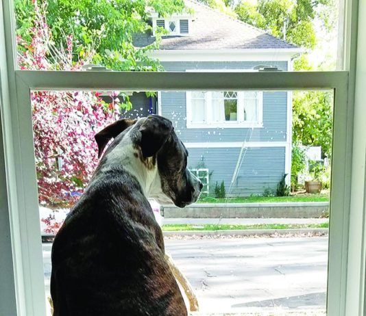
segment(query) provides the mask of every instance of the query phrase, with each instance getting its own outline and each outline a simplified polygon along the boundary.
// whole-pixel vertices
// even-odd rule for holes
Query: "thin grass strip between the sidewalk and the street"
[[[298,228],[328,228],[328,223],[322,224],[254,224],[254,225],[229,225],[229,224],[167,224],[162,226],[162,231],[244,231],[248,229],[298,229]]]

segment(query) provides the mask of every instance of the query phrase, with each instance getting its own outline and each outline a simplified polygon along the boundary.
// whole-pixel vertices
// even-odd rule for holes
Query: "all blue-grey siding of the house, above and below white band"
[[[258,65],[277,66],[287,70],[287,62],[162,62],[165,70],[193,69],[253,69]],[[263,194],[265,189],[276,190],[285,172],[286,148],[249,147],[243,150],[239,172],[232,176],[240,157],[241,148],[205,148],[205,143],[221,142],[283,142],[287,139],[287,92],[263,92],[263,127],[260,128],[186,128],[186,92],[161,92],[162,116],[173,122],[182,142],[202,143],[202,148],[188,148],[188,166],[203,167],[210,171],[210,195],[215,183],[224,181],[228,196]],[[291,132],[291,131],[290,131]],[[231,188],[230,188],[231,187]]]

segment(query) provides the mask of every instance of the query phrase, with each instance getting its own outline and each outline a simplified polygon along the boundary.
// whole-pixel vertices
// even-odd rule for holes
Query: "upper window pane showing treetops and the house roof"
[[[14,3],[27,70],[334,70],[341,47],[336,0]]]

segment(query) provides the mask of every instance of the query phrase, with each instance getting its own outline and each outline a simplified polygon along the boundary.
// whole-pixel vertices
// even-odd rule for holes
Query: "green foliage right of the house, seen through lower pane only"
[[[293,143],[321,146],[323,156],[332,153],[332,92],[306,91],[293,94]]]

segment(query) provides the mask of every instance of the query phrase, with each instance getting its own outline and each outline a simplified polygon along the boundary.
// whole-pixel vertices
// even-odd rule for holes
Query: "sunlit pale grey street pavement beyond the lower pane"
[[[200,311],[325,309],[328,237],[166,239]],[[51,243],[43,244],[49,292]]]

